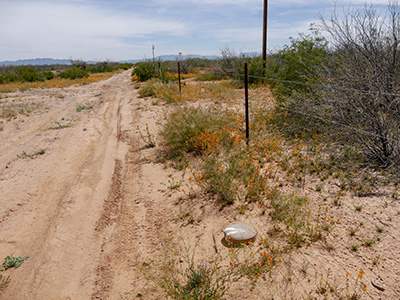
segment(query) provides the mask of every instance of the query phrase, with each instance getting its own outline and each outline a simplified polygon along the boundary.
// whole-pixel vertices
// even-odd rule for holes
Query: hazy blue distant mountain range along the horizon
[[[251,53],[240,53],[239,56],[246,56],[246,57],[253,57],[259,56],[260,53],[251,52]],[[219,59],[219,56],[216,55],[198,55],[198,54],[187,54],[187,55],[162,55],[157,56],[155,58],[156,61],[166,61],[166,60],[178,60],[178,59],[188,59],[188,58],[201,58],[201,59]],[[137,63],[140,61],[152,60],[152,58],[145,58],[145,59],[133,59],[133,60],[121,60],[118,61],[119,63]],[[88,64],[95,64],[96,61],[87,61]],[[0,66],[43,66],[43,65],[70,65],[71,62],[68,59],[53,59],[53,58],[34,58],[34,59],[20,59],[15,61],[0,61]]]

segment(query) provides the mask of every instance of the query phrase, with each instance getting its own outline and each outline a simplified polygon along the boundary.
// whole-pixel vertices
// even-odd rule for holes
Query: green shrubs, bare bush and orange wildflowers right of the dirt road
[[[377,265],[373,249],[385,229],[379,217],[367,216],[376,214],[366,212],[372,209],[368,197],[385,203],[381,213],[392,220],[398,205],[398,20],[395,2],[385,17],[368,5],[335,12],[310,34],[272,53],[265,67],[258,57],[223,49],[212,67],[203,66],[194,76],[188,71],[181,93],[176,77],[161,76],[164,71],[157,72],[151,62],[134,67],[133,79],[144,82],[138,85],[141,97],[157,99],[153,105],[172,104],[159,132],[156,160],[182,170],[189,186],[200,188],[197,194],[188,191],[188,199],[212,195],[220,210],[233,207],[264,224],[252,250],[214,253],[210,261],[218,266],[194,256],[176,265],[171,250],[163,272],[153,278],[170,297],[224,299],[227,281],[235,286],[247,278],[256,286],[266,273],[282,272],[282,261],[293,263],[292,253],[314,245],[327,256],[338,248],[348,257],[363,252]],[[248,143],[237,102],[244,96],[244,62],[252,99]],[[354,222],[343,222],[347,217]],[[182,218],[198,222],[193,211]],[[372,225],[368,229],[365,220]],[[398,247],[397,237],[386,234]],[[305,258],[298,271],[306,274],[312,263]],[[356,276],[345,271],[340,283],[329,271],[319,274],[309,299],[363,298],[369,289],[364,269]],[[290,285],[290,277],[286,280]],[[208,295],[215,285],[221,294]],[[379,290],[374,281],[372,288]],[[287,292],[285,297],[294,297]]]

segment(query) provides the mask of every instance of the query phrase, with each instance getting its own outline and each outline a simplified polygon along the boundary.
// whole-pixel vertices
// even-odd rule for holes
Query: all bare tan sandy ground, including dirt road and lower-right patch
[[[11,282],[0,299],[166,299],[142,266],[157,265],[171,247],[197,245],[199,261],[207,261],[227,251],[221,230],[231,222],[246,222],[264,237],[277,230],[256,205],[240,214],[237,207],[221,211],[211,195],[187,197],[197,191],[187,185],[188,174],[157,162],[158,147],[145,149],[137,129],[143,133],[148,124],[156,135],[169,108],[138,98],[129,74],[1,95],[3,107],[23,109],[0,124],[0,258],[29,259],[1,273]],[[174,180],[184,182],[184,191],[169,188]],[[362,205],[370,224],[344,205],[323,202],[337,190],[305,188],[329,206],[329,217],[341,219],[326,240],[282,254],[280,267],[256,284],[243,278],[227,299],[335,299],[317,292],[321,281],[344,290],[349,272],[351,290],[360,269],[368,288],[363,299],[399,299],[400,204],[349,196],[347,205]],[[375,224],[395,238],[378,234]],[[372,247],[362,246],[377,237]],[[351,251],[352,244],[360,249]]]

